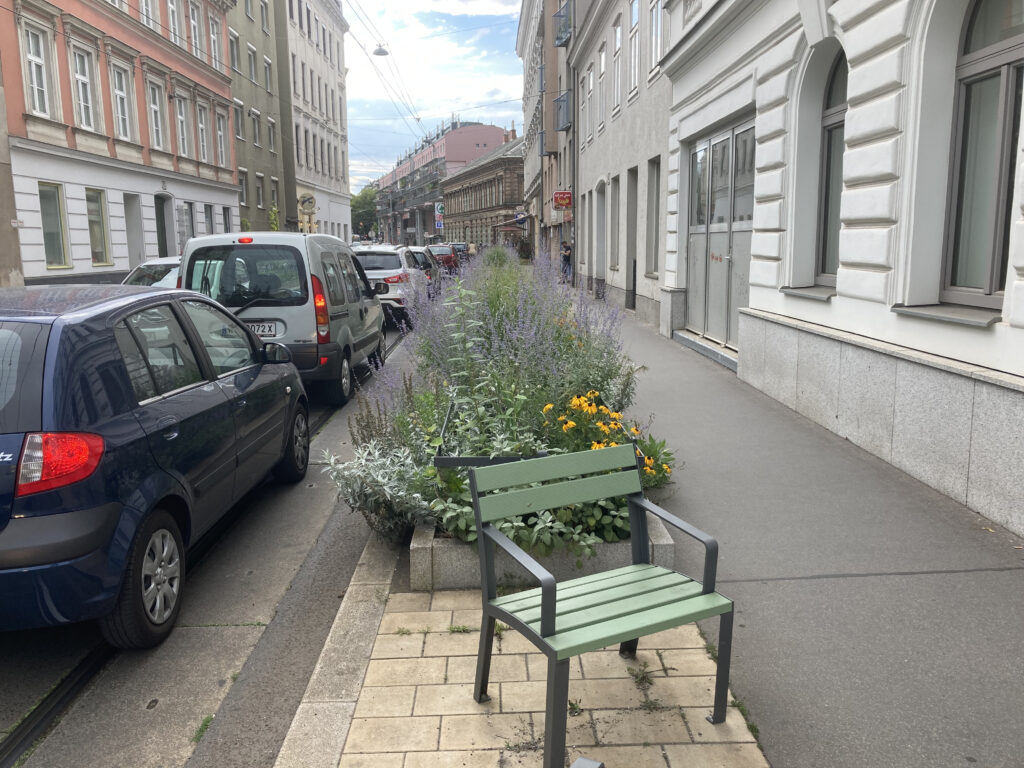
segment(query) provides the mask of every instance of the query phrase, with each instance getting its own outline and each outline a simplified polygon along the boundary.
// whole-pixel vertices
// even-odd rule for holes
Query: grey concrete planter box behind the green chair
[[[675,545],[665,524],[658,518],[647,515],[647,530],[650,537],[651,562],[673,567]],[[539,557],[538,561],[551,571],[556,581],[563,582],[629,565],[633,561],[632,545],[629,541],[601,544],[593,557],[583,558],[583,566],[579,568],[577,559],[561,550]],[[418,592],[474,589],[480,586],[480,561],[476,542],[466,544],[459,539],[434,536],[432,525],[421,525],[413,534],[409,560],[410,583]],[[495,558],[495,573],[499,584],[532,584],[535,581],[522,566],[501,550]]]

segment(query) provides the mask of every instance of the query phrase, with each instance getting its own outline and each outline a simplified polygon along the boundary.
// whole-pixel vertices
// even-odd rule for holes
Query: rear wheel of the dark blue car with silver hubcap
[[[143,520],[125,568],[114,611],[99,629],[117,648],[152,648],[162,643],[178,618],[185,557],[174,518],[156,510]]]

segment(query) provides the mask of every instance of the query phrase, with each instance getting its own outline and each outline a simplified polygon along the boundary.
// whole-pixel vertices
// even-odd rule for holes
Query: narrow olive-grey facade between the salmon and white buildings
[[[242,0],[227,13],[234,155],[241,228],[284,229],[289,194],[282,136],[291,130],[290,94],[281,93],[280,19],[270,0]],[[286,48],[287,50],[287,48]],[[287,82],[287,81],[286,81]],[[294,196],[294,186],[290,193]]]

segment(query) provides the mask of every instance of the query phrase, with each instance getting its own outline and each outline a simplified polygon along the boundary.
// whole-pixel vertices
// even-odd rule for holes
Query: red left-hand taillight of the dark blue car
[[[91,475],[103,458],[103,438],[87,432],[32,432],[25,436],[14,496],[70,485]]]

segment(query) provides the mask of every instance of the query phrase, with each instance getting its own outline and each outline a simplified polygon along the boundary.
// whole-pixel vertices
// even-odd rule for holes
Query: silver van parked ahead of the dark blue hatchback
[[[219,301],[261,339],[286,345],[303,382],[345,402],[352,368],[384,362],[380,299],[351,249],[329,234],[228,232],[193,238],[181,288]]]

